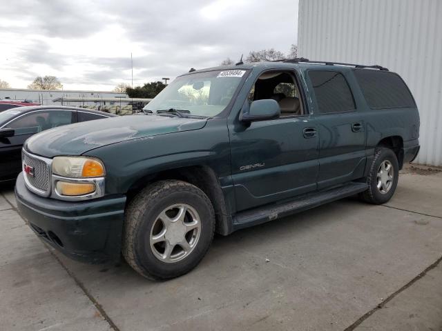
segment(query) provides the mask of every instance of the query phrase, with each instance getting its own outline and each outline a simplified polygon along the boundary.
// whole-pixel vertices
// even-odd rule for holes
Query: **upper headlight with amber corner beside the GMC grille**
[[[55,157],[52,173],[74,178],[103,177],[105,174],[103,163],[90,157]]]

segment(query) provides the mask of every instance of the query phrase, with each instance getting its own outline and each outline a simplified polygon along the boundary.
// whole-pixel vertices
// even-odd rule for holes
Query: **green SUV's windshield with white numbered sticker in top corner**
[[[188,110],[191,115],[214,117],[235,94],[246,70],[216,70],[186,74],[169,84],[144,111]],[[189,112],[184,114],[189,115]]]

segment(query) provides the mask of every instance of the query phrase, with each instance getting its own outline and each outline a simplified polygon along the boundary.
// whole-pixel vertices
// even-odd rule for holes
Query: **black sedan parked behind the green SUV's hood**
[[[21,172],[21,148],[32,134],[66,124],[115,117],[106,112],[61,106],[28,106],[0,112],[0,181]]]

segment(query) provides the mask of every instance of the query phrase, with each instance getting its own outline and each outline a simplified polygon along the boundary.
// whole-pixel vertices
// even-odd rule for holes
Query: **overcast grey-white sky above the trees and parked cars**
[[[288,52],[298,0],[3,1],[0,79],[26,88],[37,76],[64,89],[112,90],[218,66],[250,50]]]

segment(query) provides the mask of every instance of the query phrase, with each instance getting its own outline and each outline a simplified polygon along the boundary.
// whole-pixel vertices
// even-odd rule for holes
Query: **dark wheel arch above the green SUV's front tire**
[[[232,232],[232,217],[227,212],[227,205],[220,181],[215,171],[208,165],[192,165],[148,174],[146,177],[135,181],[128,189],[126,194],[127,203],[146,185],[163,179],[182,180],[200,188],[209,197],[213,210],[215,210],[215,232],[222,235]]]

